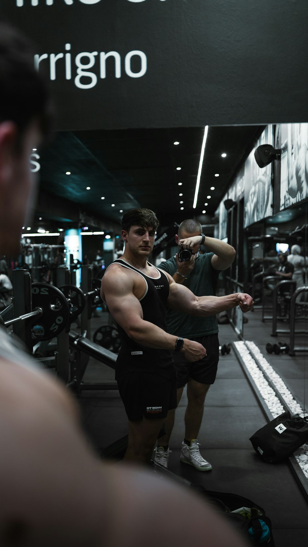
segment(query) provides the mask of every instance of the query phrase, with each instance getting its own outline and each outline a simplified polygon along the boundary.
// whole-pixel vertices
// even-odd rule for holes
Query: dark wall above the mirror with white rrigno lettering
[[[47,55],[59,130],[308,119],[306,0],[2,0],[0,14]]]

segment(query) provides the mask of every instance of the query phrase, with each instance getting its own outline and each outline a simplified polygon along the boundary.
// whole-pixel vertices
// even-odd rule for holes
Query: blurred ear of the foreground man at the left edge
[[[18,130],[13,121],[0,123],[0,184],[11,181]]]

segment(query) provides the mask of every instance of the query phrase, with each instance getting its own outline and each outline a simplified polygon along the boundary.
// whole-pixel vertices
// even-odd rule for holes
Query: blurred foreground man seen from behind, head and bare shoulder
[[[29,159],[48,130],[47,104],[27,40],[0,24],[0,252],[9,257],[19,253],[32,202]],[[189,490],[103,465],[82,434],[74,399],[16,344],[0,326],[3,547],[178,547],[188,526],[196,547],[205,538],[211,547],[245,547]]]

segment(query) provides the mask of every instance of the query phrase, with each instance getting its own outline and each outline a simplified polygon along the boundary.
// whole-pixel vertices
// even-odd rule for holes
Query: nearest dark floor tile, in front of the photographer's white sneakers
[[[207,490],[233,492],[264,508],[275,528],[305,528],[308,505],[286,463],[263,462],[251,450],[207,450],[204,457],[212,464],[209,472],[200,472],[179,460],[180,450],[172,450],[168,468]],[[307,543],[307,536],[306,536]],[[305,544],[306,544],[305,543]],[[276,542],[276,547],[286,544]],[[290,545],[299,545],[290,542]]]

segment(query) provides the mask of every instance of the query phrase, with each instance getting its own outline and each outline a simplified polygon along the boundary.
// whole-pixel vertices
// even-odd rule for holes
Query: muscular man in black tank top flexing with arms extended
[[[252,309],[253,300],[243,293],[195,296],[170,274],[149,264],[147,258],[152,253],[158,228],[153,211],[127,211],[122,228],[124,254],[107,268],[101,296],[118,324],[122,340],[115,375],[129,418],[125,459],[147,463],[168,410],[177,406],[176,369],[171,351],[181,352],[190,363],[206,357],[206,348],[199,342],[167,334],[166,306],[201,321],[235,306],[247,312]],[[200,235],[184,239],[183,247],[193,251],[199,243]],[[218,257],[214,263],[217,267],[221,265]]]

